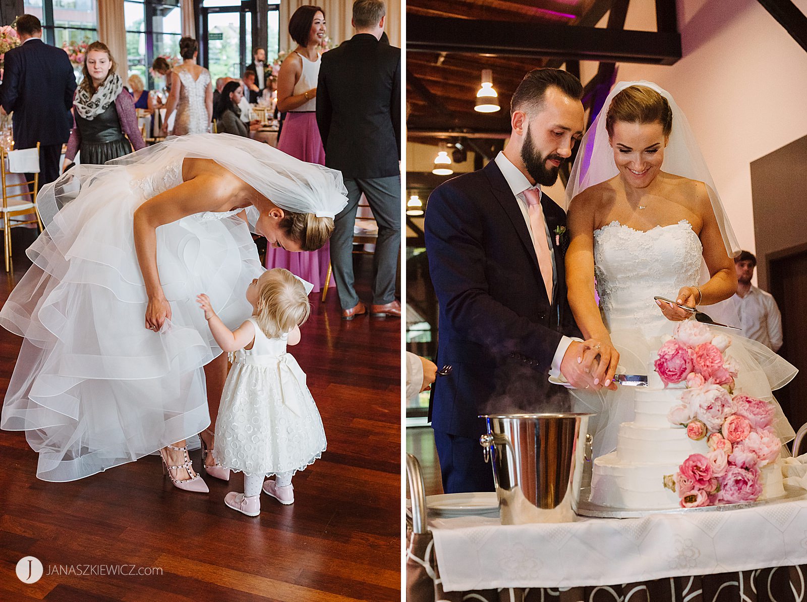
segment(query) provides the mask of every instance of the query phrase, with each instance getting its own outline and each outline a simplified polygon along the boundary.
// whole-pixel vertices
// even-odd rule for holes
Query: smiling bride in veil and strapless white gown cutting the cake
[[[608,95],[580,143],[567,198],[569,304],[583,337],[599,341],[587,353],[600,356],[596,390],[573,395],[580,411],[597,414],[590,431],[599,456],[633,419],[635,389],[611,382],[617,367],[646,374],[670,320],[689,316],[654,296],[711,306],[714,319],[738,324],[720,302],[737,289],[731,257],[740,249],[683,112],[650,82],[620,82]],[[771,390],[796,369],[764,345],[730,337],[738,389],[776,403]],[[776,407],[777,433],[789,441],[792,427]]]

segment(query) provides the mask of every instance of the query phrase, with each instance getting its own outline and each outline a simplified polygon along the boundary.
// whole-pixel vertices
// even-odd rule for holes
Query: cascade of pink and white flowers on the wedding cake
[[[706,324],[680,322],[659,349],[654,366],[665,383],[686,382],[681,404],[667,414],[686,427],[690,439],[706,437],[707,454],[692,454],[664,487],[676,491],[682,508],[755,501],[762,494],[759,469],[779,456],[782,443],[771,428],[774,406],[763,399],[734,395],[737,365],[725,350],[725,334]]]

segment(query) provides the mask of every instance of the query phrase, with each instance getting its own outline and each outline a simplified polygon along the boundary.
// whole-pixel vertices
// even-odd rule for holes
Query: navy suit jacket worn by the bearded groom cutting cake
[[[434,429],[479,437],[479,414],[558,411],[567,391],[548,383],[562,335],[579,336],[566,295],[566,213],[543,196],[553,232],[554,303],[538,268],[518,201],[498,165],[445,182],[429,196],[426,249],[440,304],[437,366],[451,366],[433,387]],[[567,235],[566,235],[567,236]]]

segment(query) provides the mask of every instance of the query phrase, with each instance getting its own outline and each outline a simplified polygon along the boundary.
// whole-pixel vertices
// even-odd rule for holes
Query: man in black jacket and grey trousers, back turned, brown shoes
[[[331,263],[342,319],[367,312],[353,286],[353,226],[365,194],[378,223],[373,316],[401,315],[395,300],[400,250],[400,77],[401,51],[383,36],[383,0],[353,2],[356,34],[322,55],[316,90],[316,121],[325,165],[345,176],[348,204],[334,220]]]

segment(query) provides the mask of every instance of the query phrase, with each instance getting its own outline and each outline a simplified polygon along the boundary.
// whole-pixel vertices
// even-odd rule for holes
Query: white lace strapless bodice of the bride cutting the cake
[[[699,282],[703,248],[686,219],[642,232],[617,221],[594,232],[594,274],[609,332],[639,328],[646,337],[667,332],[656,295],[675,299]]]

